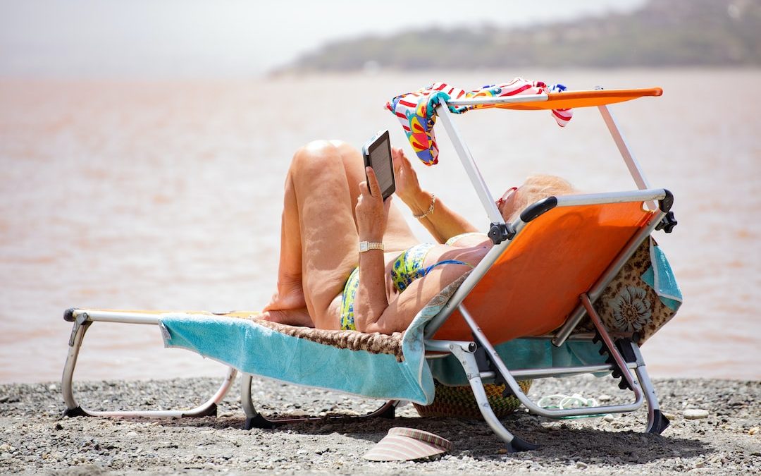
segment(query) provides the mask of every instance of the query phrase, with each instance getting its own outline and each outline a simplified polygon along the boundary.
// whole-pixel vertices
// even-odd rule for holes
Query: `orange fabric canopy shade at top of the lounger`
[[[600,89],[594,91],[564,91],[549,93],[546,101],[533,101],[509,104],[479,104],[476,109],[498,107],[499,109],[543,110],[570,109],[572,107],[604,106],[606,104],[622,103],[638,97],[660,96],[664,94],[661,88],[640,89]],[[530,96],[527,96],[530,97]]]

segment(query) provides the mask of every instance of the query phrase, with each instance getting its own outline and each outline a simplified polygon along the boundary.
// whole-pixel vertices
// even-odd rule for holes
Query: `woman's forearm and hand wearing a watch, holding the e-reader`
[[[366,169],[368,182],[359,184],[359,197],[355,212],[359,241],[383,241],[391,197],[383,200],[380,186],[372,168]],[[368,331],[388,308],[386,294],[386,267],[383,250],[359,254],[359,285],[354,299],[354,324],[360,332]]]

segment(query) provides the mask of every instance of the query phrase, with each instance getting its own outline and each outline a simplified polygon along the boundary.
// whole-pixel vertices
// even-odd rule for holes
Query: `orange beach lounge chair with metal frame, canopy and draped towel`
[[[668,420],[658,407],[640,345],[677,311],[681,295],[651,238],[676,221],[673,196],[651,188],[607,104],[659,96],[659,88],[573,91],[530,96],[448,98],[436,107],[490,221],[495,246],[472,271],[431,300],[403,333],[362,334],[273,324],[256,312],[107,311],[73,308],[74,327],[62,380],[69,416],[194,417],[215,414],[237,372],[246,426],[271,427],[251,398],[251,375],[387,400],[363,417],[393,417],[399,401],[431,404],[438,385],[470,385],[486,423],[508,450],[536,448],[514,436],[492,411],[484,383],[505,384],[534,414],[559,418],[634,411],[648,405],[646,430]],[[451,118],[451,107],[552,110],[598,107],[637,190],[540,200],[506,223]],[[500,305],[495,305],[495,302]],[[72,377],[85,331],[94,322],[157,325],[167,347],[193,350],[229,366],[212,398],[188,411],[91,411],[75,399]],[[508,324],[505,324],[508,323]],[[612,372],[632,402],[540,407],[518,380]]]

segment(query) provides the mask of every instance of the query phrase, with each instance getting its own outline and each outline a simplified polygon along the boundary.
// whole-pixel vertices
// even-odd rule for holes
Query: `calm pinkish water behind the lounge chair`
[[[655,376],[761,379],[759,71],[536,71],[572,89],[660,85],[613,108],[679,226],[657,234],[686,302],[644,348]],[[65,308],[258,309],[272,293],[282,182],[298,145],[361,145],[384,101],[431,81],[475,88],[514,72],[251,81],[0,81],[0,382],[60,378]],[[634,188],[595,110],[479,111],[457,122],[494,191],[528,174],[587,191]],[[443,131],[425,187],[486,226]],[[409,147],[408,147],[409,150]],[[410,219],[412,221],[412,219]],[[425,238],[425,231],[416,232]],[[78,379],[222,375],[164,350],[152,326],[96,324]]]

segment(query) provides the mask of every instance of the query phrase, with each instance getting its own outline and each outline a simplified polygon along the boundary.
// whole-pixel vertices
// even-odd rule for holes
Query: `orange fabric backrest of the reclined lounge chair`
[[[642,203],[556,207],[528,223],[464,301],[492,343],[561,326],[654,212]],[[434,338],[470,340],[455,311]]]

